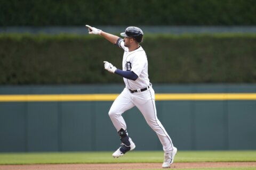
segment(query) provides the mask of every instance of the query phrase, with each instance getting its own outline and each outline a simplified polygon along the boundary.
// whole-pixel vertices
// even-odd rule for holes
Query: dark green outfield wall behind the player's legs
[[[159,120],[180,150],[256,149],[255,84],[176,84],[153,86]],[[0,86],[0,151],[115,150],[117,132],[108,117],[112,99],[101,101],[5,101],[6,96],[119,94],[123,84],[108,86]],[[160,94],[197,95],[162,99]],[[212,95],[210,95],[212,94]],[[223,98],[214,99],[211,96]],[[243,94],[251,98],[225,98]],[[203,99],[204,96],[209,96]],[[137,150],[162,150],[157,135],[137,108],[123,114]]]

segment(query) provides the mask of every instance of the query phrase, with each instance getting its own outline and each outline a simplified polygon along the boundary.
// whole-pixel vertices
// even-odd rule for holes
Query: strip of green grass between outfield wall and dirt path
[[[163,151],[132,151],[120,158],[112,152],[29,152],[2,153],[0,165],[6,164],[71,164],[71,163],[162,163]],[[175,162],[256,162],[256,151],[178,151]],[[256,169],[197,168],[197,169]],[[192,169],[190,169],[192,170]]]

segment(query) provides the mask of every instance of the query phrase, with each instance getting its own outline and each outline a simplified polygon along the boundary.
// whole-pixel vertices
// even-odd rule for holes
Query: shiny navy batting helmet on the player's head
[[[125,32],[121,33],[121,36],[134,38],[138,43],[141,43],[143,31],[138,27],[127,27]]]

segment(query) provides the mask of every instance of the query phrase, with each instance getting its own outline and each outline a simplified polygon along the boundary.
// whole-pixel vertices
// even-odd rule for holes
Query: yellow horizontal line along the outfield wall
[[[0,95],[0,102],[21,101],[114,101],[118,94]],[[256,93],[240,94],[156,94],[156,100],[256,100]]]

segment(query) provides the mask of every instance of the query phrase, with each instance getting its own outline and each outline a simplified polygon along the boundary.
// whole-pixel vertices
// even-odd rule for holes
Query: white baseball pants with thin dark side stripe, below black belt
[[[109,117],[117,131],[123,128],[126,130],[126,123],[122,114],[136,106],[144,116],[148,125],[158,135],[165,152],[173,150],[172,140],[165,131],[162,123],[158,120],[155,106],[155,91],[150,87],[146,91],[131,93],[129,89],[124,88],[122,93],[115,99],[109,110]]]

